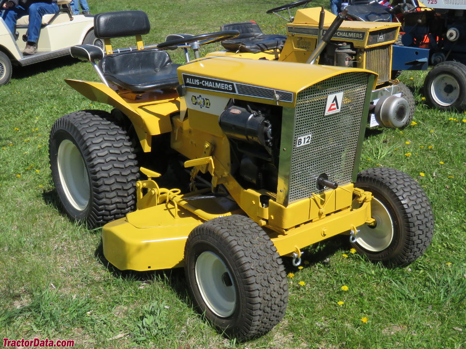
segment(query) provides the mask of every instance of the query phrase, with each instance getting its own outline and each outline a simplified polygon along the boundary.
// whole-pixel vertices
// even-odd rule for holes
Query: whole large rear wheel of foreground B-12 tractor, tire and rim
[[[136,156],[106,111],[76,111],[55,121],[49,157],[60,202],[72,220],[93,229],[133,210]]]

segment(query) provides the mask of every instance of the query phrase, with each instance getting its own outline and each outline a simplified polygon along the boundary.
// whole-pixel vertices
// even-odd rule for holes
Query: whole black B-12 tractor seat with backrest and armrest
[[[174,88],[179,85],[176,69],[180,64],[172,63],[166,51],[144,48],[141,35],[149,31],[149,18],[143,11],[100,13],[94,17],[94,32],[104,40],[105,54],[93,45],[78,45],[70,52],[73,57],[93,63],[99,60],[98,73],[105,83],[133,92]],[[137,48],[112,49],[111,38],[133,35]]]

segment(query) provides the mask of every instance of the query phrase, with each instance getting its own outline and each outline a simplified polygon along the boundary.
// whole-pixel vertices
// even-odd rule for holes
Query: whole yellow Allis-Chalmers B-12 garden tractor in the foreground
[[[423,254],[433,215],[416,181],[390,168],[358,173],[377,74],[234,57],[179,65],[144,47],[149,30],[141,11],[95,17],[105,52],[71,53],[91,61],[102,82],[67,83],[114,109],[72,112],[50,133],[64,211],[103,226],[113,266],[184,266],[200,313],[247,340],[283,318],[284,256],[298,265],[303,248],[338,234],[388,266]],[[112,48],[110,38],[128,35],[137,48]],[[235,35],[185,40],[199,48]]]

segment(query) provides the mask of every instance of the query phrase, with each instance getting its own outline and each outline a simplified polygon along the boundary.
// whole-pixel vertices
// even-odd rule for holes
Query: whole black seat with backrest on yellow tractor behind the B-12
[[[234,39],[224,40],[222,46],[229,51],[257,53],[269,49],[282,50],[286,35],[265,35],[255,22],[241,22],[224,24],[222,31],[237,30],[239,36]]]

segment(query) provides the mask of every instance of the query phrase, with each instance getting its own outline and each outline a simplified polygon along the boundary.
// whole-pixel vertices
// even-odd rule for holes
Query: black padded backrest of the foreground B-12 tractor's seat
[[[144,11],[104,12],[94,17],[94,33],[101,39],[144,35],[149,32],[149,17]]]

